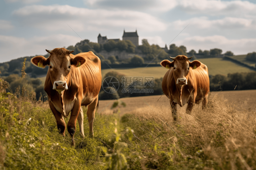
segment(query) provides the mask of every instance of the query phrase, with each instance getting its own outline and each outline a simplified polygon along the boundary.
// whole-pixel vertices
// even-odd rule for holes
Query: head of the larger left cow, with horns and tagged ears
[[[70,54],[74,50],[67,50],[65,48],[55,48],[46,51],[50,53],[47,59],[44,56],[36,56],[31,59],[31,63],[41,68],[49,65],[53,90],[57,90],[61,94],[63,90],[68,89],[67,85],[69,84],[72,68],[76,69],[76,67],[84,64],[85,59],[81,56],[71,58]]]

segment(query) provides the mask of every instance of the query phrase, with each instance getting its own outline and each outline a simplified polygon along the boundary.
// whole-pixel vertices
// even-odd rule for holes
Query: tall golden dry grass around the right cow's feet
[[[210,95],[205,110],[197,105],[191,115],[185,114],[185,107],[186,105],[178,109],[177,121],[172,119],[170,107],[167,105],[140,108],[133,111],[133,114],[141,121],[161,124],[156,126],[156,129],[162,128],[162,133],[167,134],[160,138],[159,133],[148,130],[147,135],[151,134],[154,138],[152,141],[157,142],[162,150],[175,146],[181,157],[200,158],[206,169],[256,169],[254,111],[238,111],[220,95]],[[147,131],[146,125],[139,126],[137,129],[133,127],[137,133],[138,129]],[[146,135],[138,134],[138,137],[140,135],[144,141],[149,140]],[[175,156],[173,159],[175,160]],[[176,163],[179,163],[178,161]]]

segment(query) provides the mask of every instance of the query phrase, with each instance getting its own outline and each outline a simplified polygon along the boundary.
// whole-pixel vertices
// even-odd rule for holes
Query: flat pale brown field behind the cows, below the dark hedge
[[[223,97],[224,100],[228,100],[230,105],[232,105],[236,110],[256,110],[256,90],[234,90],[234,91],[213,91],[211,96],[218,95],[220,98]],[[121,113],[129,113],[133,110],[146,108],[148,111],[152,111],[150,107],[157,110],[169,109],[170,103],[165,95],[151,95],[142,97],[127,97],[121,98],[121,101],[126,103],[125,108],[121,108]],[[115,100],[99,100],[99,111],[103,112],[113,112],[111,106]],[[107,107],[106,107],[107,106]],[[106,108],[105,108],[106,107]],[[178,108],[179,105],[177,105]],[[186,106],[182,107],[181,110],[184,111]],[[180,110],[180,109],[179,109]]]

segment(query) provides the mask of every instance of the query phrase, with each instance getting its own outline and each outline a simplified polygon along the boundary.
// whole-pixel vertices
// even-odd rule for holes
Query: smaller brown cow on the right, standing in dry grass
[[[210,92],[210,80],[207,66],[200,61],[190,62],[189,59],[192,57],[188,58],[184,55],[170,58],[174,61],[163,60],[160,63],[169,69],[164,75],[162,89],[169,98],[172,115],[176,120],[176,104],[182,107],[188,103],[187,113],[190,113],[194,104],[198,104],[201,99],[203,100],[202,108],[205,107],[208,102],[208,92]]]

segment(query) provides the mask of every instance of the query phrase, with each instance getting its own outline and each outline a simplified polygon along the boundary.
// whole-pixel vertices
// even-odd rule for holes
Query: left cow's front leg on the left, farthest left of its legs
[[[61,115],[60,112],[58,112],[58,110],[56,110],[56,108],[51,103],[51,101],[49,101],[49,105],[50,105],[51,111],[56,119],[57,129],[59,130],[59,133],[62,134],[63,136],[65,136],[66,123],[65,123],[63,116]]]

